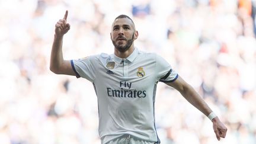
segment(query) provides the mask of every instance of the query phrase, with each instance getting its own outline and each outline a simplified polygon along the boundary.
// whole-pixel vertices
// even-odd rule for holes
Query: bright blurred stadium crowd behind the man
[[[49,70],[56,22],[68,9],[63,56],[113,53],[111,24],[133,18],[140,50],[158,53],[228,127],[212,122],[159,83],[155,103],[163,144],[256,143],[255,0],[0,0],[0,143],[98,144],[92,84]]]

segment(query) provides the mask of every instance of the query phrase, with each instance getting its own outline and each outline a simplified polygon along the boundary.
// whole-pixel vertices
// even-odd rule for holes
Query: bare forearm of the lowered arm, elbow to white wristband
[[[210,113],[212,113],[212,110],[206,104],[203,98],[201,98],[201,96],[190,85],[184,87],[184,91],[181,91],[181,94],[189,103],[194,105],[194,107],[200,110],[204,115],[208,116]]]

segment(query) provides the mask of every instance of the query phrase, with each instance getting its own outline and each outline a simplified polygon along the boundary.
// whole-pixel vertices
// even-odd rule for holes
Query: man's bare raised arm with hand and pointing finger
[[[70,29],[70,25],[66,21],[67,17],[68,11],[66,11],[64,18],[60,19],[55,25],[55,38],[50,56],[50,71],[56,74],[75,75],[70,60],[64,60],[62,53],[63,36]]]

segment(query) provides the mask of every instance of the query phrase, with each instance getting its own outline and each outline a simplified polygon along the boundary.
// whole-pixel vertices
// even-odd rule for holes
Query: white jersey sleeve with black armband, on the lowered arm
[[[156,70],[158,72],[157,79],[160,82],[174,82],[178,78],[178,73],[164,58],[158,55],[156,55]]]

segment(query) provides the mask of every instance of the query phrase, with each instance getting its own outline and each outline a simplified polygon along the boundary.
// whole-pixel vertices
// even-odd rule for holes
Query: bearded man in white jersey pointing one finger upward
[[[159,81],[177,89],[189,103],[208,116],[218,140],[226,136],[227,129],[218,117],[161,56],[135,48],[133,41],[139,34],[132,19],[119,15],[114,20],[110,33],[114,54],[63,60],[63,35],[70,29],[67,17],[68,11],[55,25],[50,70],[92,82],[98,98],[101,143],[160,143],[154,114]]]

